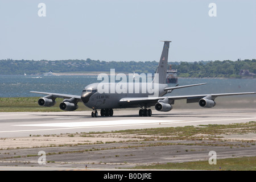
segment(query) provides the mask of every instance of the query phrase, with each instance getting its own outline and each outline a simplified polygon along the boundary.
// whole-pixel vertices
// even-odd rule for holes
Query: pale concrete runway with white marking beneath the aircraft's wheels
[[[151,117],[139,117],[137,110],[125,109],[114,111],[113,117],[92,118],[90,113],[0,113],[0,138],[256,121],[255,108],[176,109],[167,113],[153,110]]]

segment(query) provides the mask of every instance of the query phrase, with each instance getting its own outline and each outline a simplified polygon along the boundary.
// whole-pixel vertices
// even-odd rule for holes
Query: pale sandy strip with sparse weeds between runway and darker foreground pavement
[[[199,135],[199,137],[202,137],[203,134],[197,134],[197,135]],[[204,135],[205,138],[207,138],[207,136],[208,135]],[[54,135],[49,137],[32,136],[32,137],[1,138],[0,150],[15,149],[15,148],[77,146],[77,145],[83,145],[83,144],[137,142],[145,139],[159,140],[164,137],[165,136],[156,137],[154,135],[151,136],[151,135],[137,135],[137,134],[125,135],[125,134],[119,133],[119,134],[89,134],[89,135],[61,134],[61,135]],[[214,139],[214,137],[211,137],[211,138]],[[216,135],[216,139],[254,142],[256,141],[256,133]]]

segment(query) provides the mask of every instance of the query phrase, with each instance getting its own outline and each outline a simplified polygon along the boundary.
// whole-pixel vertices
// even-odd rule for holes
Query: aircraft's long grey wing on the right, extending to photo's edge
[[[121,104],[156,104],[158,100],[168,98],[170,104],[174,104],[175,100],[187,99],[187,103],[199,102],[201,98],[211,97],[214,100],[219,96],[235,96],[244,94],[256,94],[256,92],[242,92],[242,93],[220,93],[220,94],[200,94],[200,95],[187,95],[187,96],[163,96],[163,97],[126,97],[121,98]]]

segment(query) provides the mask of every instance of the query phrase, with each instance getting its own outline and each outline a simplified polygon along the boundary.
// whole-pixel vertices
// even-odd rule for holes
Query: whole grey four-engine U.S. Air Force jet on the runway
[[[60,109],[73,111],[78,108],[77,103],[82,102],[85,106],[93,109],[92,117],[98,117],[98,111],[101,110],[101,116],[113,116],[113,109],[140,107],[139,116],[150,117],[151,106],[155,106],[158,111],[170,111],[175,100],[186,99],[187,103],[198,102],[201,107],[213,107],[216,105],[214,101],[219,96],[234,96],[242,94],[255,94],[256,92],[244,93],[220,93],[220,94],[198,94],[187,96],[165,96],[174,89],[187,88],[190,86],[199,86],[201,84],[172,86],[166,84],[166,72],[168,68],[168,51],[171,41],[163,41],[163,51],[160,57],[158,68],[154,76],[154,80],[147,82],[137,82],[131,79],[131,82],[125,82],[124,74],[120,82],[105,81],[87,85],[82,90],[81,96],[71,94],[35,92],[32,93],[46,94],[47,96],[39,98],[40,106],[53,106],[56,104],[56,98],[64,98],[60,103]],[[108,80],[108,81],[106,81]]]

